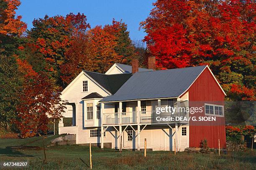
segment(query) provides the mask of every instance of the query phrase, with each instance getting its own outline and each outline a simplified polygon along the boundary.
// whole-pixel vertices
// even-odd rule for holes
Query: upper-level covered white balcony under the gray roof
[[[157,110],[166,107],[168,111]],[[186,107],[187,100],[179,98],[105,102],[101,103],[102,125],[186,123],[189,117]]]

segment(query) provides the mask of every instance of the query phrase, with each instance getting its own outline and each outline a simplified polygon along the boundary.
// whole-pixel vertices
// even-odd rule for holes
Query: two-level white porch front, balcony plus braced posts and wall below
[[[182,130],[188,130],[189,112],[186,110],[161,111],[159,107],[185,108],[188,100],[180,98],[165,98],[152,100],[101,102],[101,133],[108,128],[115,130],[115,148],[141,150],[143,140],[150,140],[153,148],[164,150],[180,150],[183,144],[188,147],[188,133],[182,136]],[[175,120],[175,117],[186,117],[187,120]],[[172,119],[171,119],[172,118]],[[178,133],[180,132],[180,133]],[[185,131],[184,131],[185,132]],[[160,135],[161,134],[161,135]],[[142,136],[141,136],[142,135]],[[186,137],[186,138],[184,138]],[[129,138],[130,143],[127,139]],[[101,138],[103,149],[104,138]],[[159,146],[158,146],[159,145]],[[184,147],[183,147],[184,148]]]

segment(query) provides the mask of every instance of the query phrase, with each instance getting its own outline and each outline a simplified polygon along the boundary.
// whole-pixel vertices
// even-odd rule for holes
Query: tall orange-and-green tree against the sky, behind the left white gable
[[[28,32],[28,37],[38,46],[38,50],[49,63],[52,80],[57,86],[63,86],[60,66],[64,64],[65,52],[70,47],[72,37],[90,28],[86,20],[86,16],[80,13],[70,13],[66,17],[46,15],[34,20],[33,28]]]

